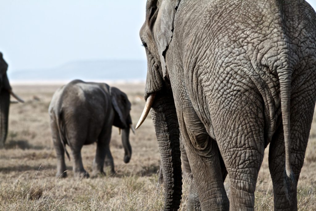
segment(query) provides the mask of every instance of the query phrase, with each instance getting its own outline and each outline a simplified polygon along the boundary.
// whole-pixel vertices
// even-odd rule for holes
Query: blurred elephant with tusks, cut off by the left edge
[[[10,95],[12,95],[18,102],[24,102],[23,99],[12,91],[7,70],[8,64],[3,59],[3,54],[0,52],[0,148],[4,147],[8,134]]]

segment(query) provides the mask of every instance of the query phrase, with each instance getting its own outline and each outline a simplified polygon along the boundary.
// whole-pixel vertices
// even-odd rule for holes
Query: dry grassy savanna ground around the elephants
[[[110,84],[111,85],[111,84]],[[144,106],[144,84],[116,84],[129,96],[134,126]],[[161,210],[163,187],[157,185],[159,152],[150,116],[131,134],[130,163],[123,162],[118,129],[113,127],[111,152],[115,175],[74,178],[71,161],[68,177],[55,178],[56,153],[49,127],[48,105],[57,85],[15,85],[24,104],[12,104],[5,149],[0,150],[0,210]],[[82,158],[91,172],[96,145],[84,146]],[[316,210],[316,116],[312,126],[305,164],[298,183],[299,210]],[[268,154],[258,176],[256,210],[273,209],[273,191]],[[229,179],[225,181],[229,187]],[[186,210],[189,184],[184,183],[180,210]]]

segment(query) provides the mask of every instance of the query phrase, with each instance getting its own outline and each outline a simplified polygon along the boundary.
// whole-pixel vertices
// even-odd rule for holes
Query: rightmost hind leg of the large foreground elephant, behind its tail
[[[311,85],[312,86],[312,85]],[[285,149],[283,126],[279,125],[269,148],[269,169],[273,183],[274,209],[297,210],[297,182],[304,163],[309,132],[313,121],[315,107],[315,93],[308,90],[292,93],[291,99],[291,168],[294,173],[295,184],[286,193],[284,170]],[[301,103],[297,103],[301,102]]]

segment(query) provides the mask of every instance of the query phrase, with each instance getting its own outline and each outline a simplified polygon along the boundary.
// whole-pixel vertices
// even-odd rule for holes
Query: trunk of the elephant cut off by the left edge
[[[0,148],[3,148],[8,133],[10,93],[6,89],[0,92]]]

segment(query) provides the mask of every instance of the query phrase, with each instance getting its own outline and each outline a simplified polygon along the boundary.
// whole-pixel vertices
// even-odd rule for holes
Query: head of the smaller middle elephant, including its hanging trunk
[[[128,100],[127,95],[116,87],[110,87],[110,95],[115,111],[113,125],[119,127],[119,129],[123,129],[122,144],[125,151],[124,162],[128,163],[132,155],[132,148],[129,141],[130,129],[133,131],[130,115],[131,102]]]

